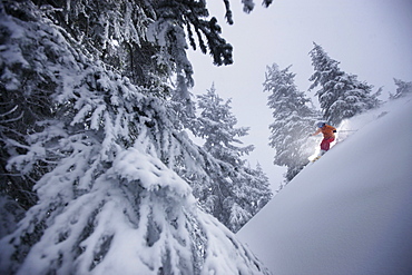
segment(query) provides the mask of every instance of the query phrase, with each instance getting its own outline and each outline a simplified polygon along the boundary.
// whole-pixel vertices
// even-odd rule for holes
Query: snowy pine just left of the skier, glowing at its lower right
[[[274,164],[287,167],[286,181],[308,163],[315,145],[307,136],[320,116],[311,99],[297,89],[290,68],[281,70],[276,63],[267,67],[263,84],[263,90],[269,92],[267,106],[273,110],[269,145],[276,150]]]

